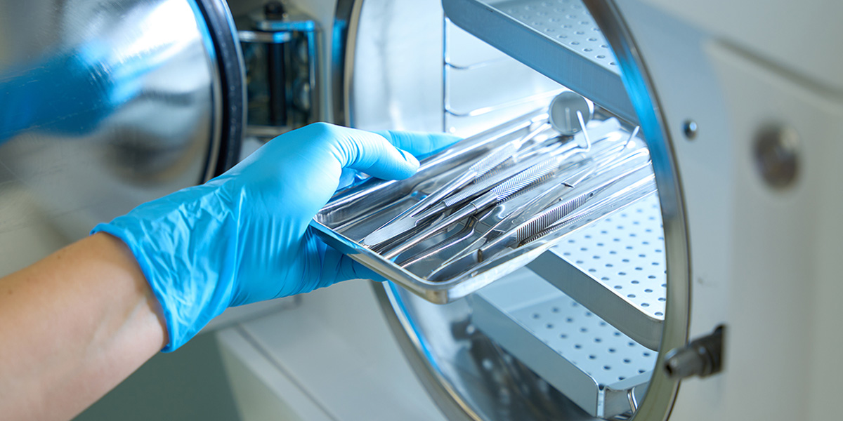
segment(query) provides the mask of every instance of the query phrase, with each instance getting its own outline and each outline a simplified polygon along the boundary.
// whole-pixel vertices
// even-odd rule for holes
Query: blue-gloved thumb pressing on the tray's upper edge
[[[406,179],[419,168],[410,152],[394,147],[389,141],[369,131],[332,126],[344,132],[336,139],[334,152],[342,168],[352,168],[379,179]],[[335,132],[335,136],[336,136]]]

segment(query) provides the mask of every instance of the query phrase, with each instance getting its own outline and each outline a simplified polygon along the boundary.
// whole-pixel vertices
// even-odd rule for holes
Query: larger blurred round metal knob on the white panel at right
[[[762,128],[754,141],[755,165],[774,189],[786,189],[799,175],[799,136],[781,125]]]

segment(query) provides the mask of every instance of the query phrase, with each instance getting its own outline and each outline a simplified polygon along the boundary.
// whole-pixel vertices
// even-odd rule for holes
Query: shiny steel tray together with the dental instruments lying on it
[[[584,131],[557,136],[542,122],[542,111],[460,141],[423,160],[409,179],[370,179],[346,189],[319,210],[311,226],[325,242],[389,280],[428,301],[446,303],[528,264],[567,233],[652,192],[647,149],[628,127],[616,119],[593,120],[587,131],[595,144],[586,149],[577,138]],[[537,115],[542,119],[535,121]],[[381,243],[385,248],[364,243],[479,157],[531,136],[530,121],[545,130],[512,149],[512,163],[501,163],[485,179],[426,211],[430,217],[422,217],[417,227],[411,220],[393,225],[404,226],[387,236]]]

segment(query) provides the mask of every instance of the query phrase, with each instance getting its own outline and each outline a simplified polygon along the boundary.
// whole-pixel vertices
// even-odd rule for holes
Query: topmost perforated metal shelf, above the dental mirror
[[[609,43],[580,0],[443,0],[443,8],[460,28],[636,123]]]

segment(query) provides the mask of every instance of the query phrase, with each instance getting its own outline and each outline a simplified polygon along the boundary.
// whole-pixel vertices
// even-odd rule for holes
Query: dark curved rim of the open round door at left
[[[205,182],[224,173],[240,158],[246,121],[246,74],[243,51],[237,38],[234,17],[223,0],[191,0],[196,5],[211,36],[214,122],[211,147],[203,178]]]

